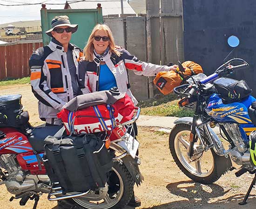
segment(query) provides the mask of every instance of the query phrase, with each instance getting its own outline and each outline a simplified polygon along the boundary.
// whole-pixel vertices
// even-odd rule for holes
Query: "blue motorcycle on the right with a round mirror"
[[[237,39],[236,42],[239,43]],[[249,135],[256,130],[256,123],[248,111],[256,99],[244,81],[225,78],[248,66],[243,59],[231,59],[212,75],[201,80],[189,78],[191,84],[174,88],[182,97],[179,106],[191,107],[196,103],[194,117],[177,119],[169,136],[175,163],[195,182],[214,183],[235,167],[236,176],[247,171],[255,174],[256,167],[250,162]],[[216,126],[220,135],[213,129]]]

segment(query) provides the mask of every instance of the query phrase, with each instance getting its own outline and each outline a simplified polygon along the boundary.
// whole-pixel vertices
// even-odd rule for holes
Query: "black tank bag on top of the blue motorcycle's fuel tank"
[[[218,78],[213,82],[223,102],[236,102],[247,98],[252,90],[244,80]]]

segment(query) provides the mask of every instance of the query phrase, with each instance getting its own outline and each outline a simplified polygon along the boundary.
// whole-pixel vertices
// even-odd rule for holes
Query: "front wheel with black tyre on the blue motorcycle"
[[[176,124],[172,129],[169,135],[169,148],[172,157],[180,170],[190,179],[198,183],[214,183],[230,168],[230,166],[227,167],[230,159],[218,156],[213,149],[198,153],[193,160],[189,159],[190,130],[191,125],[189,124]],[[199,139],[195,145],[201,145]]]

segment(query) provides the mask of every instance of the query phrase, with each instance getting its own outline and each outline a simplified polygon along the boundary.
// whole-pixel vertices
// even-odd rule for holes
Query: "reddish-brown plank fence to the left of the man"
[[[0,79],[29,76],[28,59],[40,46],[43,46],[42,40],[17,41],[0,45]]]

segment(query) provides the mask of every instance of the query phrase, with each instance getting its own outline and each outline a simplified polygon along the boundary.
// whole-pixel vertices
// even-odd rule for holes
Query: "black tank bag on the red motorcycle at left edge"
[[[27,124],[29,116],[22,110],[21,97],[20,94],[0,96],[0,125],[18,128]]]

